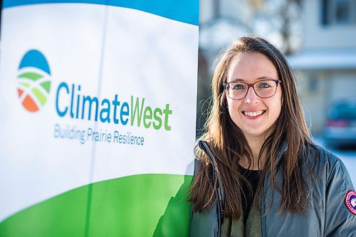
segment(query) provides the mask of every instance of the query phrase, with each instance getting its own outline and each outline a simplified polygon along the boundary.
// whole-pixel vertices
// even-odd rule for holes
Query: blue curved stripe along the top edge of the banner
[[[199,25],[199,0],[4,0],[3,9],[32,4],[101,4],[145,11],[175,21]]]

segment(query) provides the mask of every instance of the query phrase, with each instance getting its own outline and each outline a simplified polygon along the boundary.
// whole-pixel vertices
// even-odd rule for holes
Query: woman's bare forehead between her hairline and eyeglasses
[[[271,60],[262,53],[237,53],[229,66],[227,81],[246,80],[251,83],[261,78],[278,79]]]

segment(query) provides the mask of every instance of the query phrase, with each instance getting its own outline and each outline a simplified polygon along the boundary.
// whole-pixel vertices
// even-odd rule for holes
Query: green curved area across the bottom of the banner
[[[188,236],[191,181],[140,174],[82,186],[6,218],[0,236]]]

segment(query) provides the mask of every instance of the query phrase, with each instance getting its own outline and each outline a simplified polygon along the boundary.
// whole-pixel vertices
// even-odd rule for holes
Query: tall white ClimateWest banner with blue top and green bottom
[[[187,236],[197,0],[3,1],[0,236]]]

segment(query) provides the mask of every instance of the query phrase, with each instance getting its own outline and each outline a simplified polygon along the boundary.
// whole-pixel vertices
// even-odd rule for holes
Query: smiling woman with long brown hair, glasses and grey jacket
[[[356,236],[350,176],[310,139],[281,52],[263,38],[240,38],[212,88],[194,151],[190,236]]]

